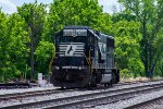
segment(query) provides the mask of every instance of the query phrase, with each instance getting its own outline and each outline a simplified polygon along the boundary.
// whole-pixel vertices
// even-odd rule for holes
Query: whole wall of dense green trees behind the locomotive
[[[98,0],[54,0],[49,7],[36,1],[13,14],[0,10],[0,82],[30,78],[32,69],[35,75],[48,74],[54,36],[66,25],[113,35],[122,76],[163,76],[163,1],[118,2],[124,10],[113,14],[104,13]]]

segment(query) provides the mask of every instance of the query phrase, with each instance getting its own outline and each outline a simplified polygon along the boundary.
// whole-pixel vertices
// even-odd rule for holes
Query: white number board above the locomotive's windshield
[[[63,36],[87,36],[87,29],[63,29]]]

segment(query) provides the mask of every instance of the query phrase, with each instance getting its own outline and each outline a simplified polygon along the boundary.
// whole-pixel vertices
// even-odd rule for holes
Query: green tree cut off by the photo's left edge
[[[10,73],[10,69],[8,68],[10,65],[9,61],[9,45],[11,41],[10,36],[8,35],[8,17],[7,15],[0,10],[0,82],[7,81],[8,75],[12,75]]]

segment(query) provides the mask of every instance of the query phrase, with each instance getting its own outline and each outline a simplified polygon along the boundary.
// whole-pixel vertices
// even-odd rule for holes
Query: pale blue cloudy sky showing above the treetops
[[[37,0],[38,3],[50,4],[53,0]],[[35,2],[35,0],[0,0],[0,8],[5,13],[16,12],[16,7],[25,2]],[[113,13],[113,5],[118,8],[117,0],[99,0],[99,4],[103,5],[103,12]]]

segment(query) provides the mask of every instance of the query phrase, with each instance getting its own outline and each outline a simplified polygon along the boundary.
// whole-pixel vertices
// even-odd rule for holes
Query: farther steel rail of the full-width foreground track
[[[68,106],[68,105],[76,105],[76,104],[80,104],[80,102],[85,102],[85,101],[87,102],[88,100],[84,100],[86,98],[103,99],[103,98],[97,98],[97,96],[111,95],[111,94],[114,94],[114,93],[121,93],[123,95],[124,93],[128,94],[129,89],[130,89],[130,92],[136,93],[136,89],[146,88],[146,92],[147,92],[150,88],[155,89],[154,86],[160,86],[160,85],[162,85],[162,84],[135,86],[135,87],[116,89],[116,90],[105,90],[105,92],[98,92],[98,93],[86,94],[86,95],[78,95],[78,96],[72,96],[72,97],[65,97],[65,98],[49,99],[49,100],[37,101],[37,102],[20,104],[20,105],[15,105],[15,106],[7,106],[7,107],[1,107],[1,108],[3,108],[3,109],[11,109],[11,108],[18,109],[18,108],[24,108],[24,107],[33,108],[33,107],[38,107],[40,105],[41,105],[41,107],[43,107],[46,105],[49,106],[50,104],[54,104],[54,102],[55,104],[64,102],[62,105],[54,106],[55,108],[61,108],[61,107],[65,107],[65,106]],[[162,88],[163,86],[160,86],[160,87]],[[142,89],[139,90],[139,92],[142,92]],[[115,97],[115,96],[120,96],[120,94],[115,94],[113,97]],[[111,96],[106,96],[106,98],[110,98],[110,97]],[[70,100],[70,101],[72,101],[72,100],[79,100],[79,101],[78,102],[65,104],[65,102],[67,102],[67,100]],[[54,108],[54,107],[52,107],[52,108]],[[48,107],[48,108],[50,108],[50,107]]]

